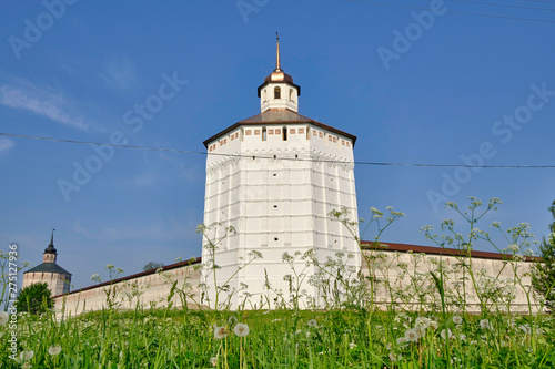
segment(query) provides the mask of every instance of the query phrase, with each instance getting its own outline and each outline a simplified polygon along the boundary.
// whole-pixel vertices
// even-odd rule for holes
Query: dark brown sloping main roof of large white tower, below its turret
[[[212,137],[204,141],[204,146],[208,147],[212,141],[219,139],[220,136],[223,136],[223,135],[230,133],[231,131],[234,131],[235,129],[238,129],[241,125],[261,125],[261,124],[271,125],[271,124],[285,124],[285,123],[300,123],[300,124],[301,123],[309,123],[309,124],[315,125],[317,127],[327,130],[330,132],[340,134],[344,137],[352,140],[353,147],[354,147],[354,144],[356,142],[356,136],[352,135],[351,133],[346,133],[346,132],[343,132],[341,130],[334,129],[333,126],[326,125],[324,123],[320,123],[320,122],[314,121],[310,117],[306,117],[304,115],[295,113],[291,110],[266,110],[263,113],[256,114],[256,115],[248,117],[245,120],[242,120],[242,121],[233,124],[232,126],[214,134]]]

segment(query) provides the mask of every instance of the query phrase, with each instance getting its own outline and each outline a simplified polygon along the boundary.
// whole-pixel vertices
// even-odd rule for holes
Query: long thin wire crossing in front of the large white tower
[[[213,156],[224,156],[224,157],[239,157],[239,158],[269,158],[269,160],[280,160],[280,161],[297,161],[297,162],[315,162],[315,163],[337,163],[337,164],[356,164],[356,165],[375,165],[375,166],[414,166],[414,167],[474,167],[474,168],[551,168],[554,170],[555,165],[461,165],[461,164],[423,164],[423,163],[383,163],[383,162],[345,162],[345,161],[334,161],[334,160],[321,160],[321,158],[297,158],[297,157],[276,157],[275,155],[246,155],[246,154],[220,154],[220,153],[208,153],[201,151],[189,151],[189,150],[176,150],[176,148],[162,148],[162,147],[148,147],[148,146],[134,146],[134,145],[119,145],[112,143],[102,142],[88,142],[78,140],[64,140],[64,139],[52,139],[52,137],[41,137],[41,136],[29,136],[23,134],[13,133],[2,133],[0,136],[28,139],[28,140],[42,140],[51,142],[64,142],[74,143],[83,145],[99,145],[99,146],[111,146],[120,148],[135,148],[135,150],[149,150],[149,151],[160,151],[170,152],[178,154],[196,154],[196,155],[213,155]]]

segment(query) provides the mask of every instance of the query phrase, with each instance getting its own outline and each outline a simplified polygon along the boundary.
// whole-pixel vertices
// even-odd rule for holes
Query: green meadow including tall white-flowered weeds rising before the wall
[[[475,242],[493,239],[475,227],[477,219],[498,203],[493,199],[482,209],[482,203],[471,198],[465,211],[451,204],[470,224],[465,236],[456,233],[451,219],[442,223],[441,235],[431,226],[423,227],[422,233],[438,246],[463,252],[455,266],[462,273],[453,274],[437,263],[426,273],[428,287],[418,290],[421,304],[411,308],[403,300],[406,294],[395,290],[395,281],[380,275],[380,253],[366,253],[366,276],[352,275],[341,258],[319,265],[323,273],[311,280],[335,289],[324,294],[324,308],[301,307],[302,291],[292,290],[291,304],[258,310],[231,310],[225,304],[216,304],[213,309],[171,305],[145,309],[138,304],[123,310],[118,304],[109,304],[104,310],[69,318],[61,318],[60,311],[40,316],[19,312],[13,357],[13,317],[0,312],[0,368],[555,368],[554,316],[546,314],[543,305],[539,310],[532,308],[533,298],[545,301],[535,296],[518,267],[533,238],[528,225],[503,230],[506,247],[498,249],[509,255],[506,265],[514,271],[511,283],[526,291],[527,311],[507,312],[514,295],[497,293],[507,288],[506,281],[495,287],[491,278],[484,283],[484,275],[472,268]],[[390,209],[383,218],[380,211],[372,212],[370,223],[377,225],[374,239],[379,247],[382,233],[403,214]],[[360,223],[347,215],[330,214],[359,239],[359,233],[363,233]],[[492,227],[500,225],[494,223]],[[204,229],[201,227],[201,232]],[[211,245],[215,252],[218,240]],[[284,256],[284,262],[291,257]],[[218,273],[213,260],[208,265],[213,265],[211,273]],[[340,283],[324,280],[330,269],[335,276],[344,273],[342,278],[334,277]],[[386,308],[374,304],[374,293],[380,288],[385,288],[393,301]],[[186,290],[178,288],[178,293],[186,299]],[[218,293],[225,301],[228,291],[222,288]],[[109,294],[115,301],[117,291],[108,289]],[[471,297],[478,306],[472,311]]]

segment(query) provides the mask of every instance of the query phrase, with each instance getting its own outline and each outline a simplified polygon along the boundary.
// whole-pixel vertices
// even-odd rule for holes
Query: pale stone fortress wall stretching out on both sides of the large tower
[[[382,309],[391,306],[404,310],[441,311],[441,296],[431,273],[440,277],[440,265],[443,266],[443,286],[448,310],[456,312],[462,309],[463,290],[466,290],[466,310],[480,311],[480,300],[476,297],[472,279],[467,270],[461,267],[461,260],[450,252],[441,248],[422,247],[414,245],[391,244],[389,249],[365,249],[363,257],[363,274],[369,275],[369,264],[373,267],[375,305]],[[433,253],[414,253],[412,248],[435,249]],[[405,248],[405,249],[400,249]],[[442,253],[446,255],[441,255]],[[531,306],[526,297],[529,290],[529,270],[532,262],[522,260],[511,263],[501,258],[500,254],[490,254],[488,257],[473,257],[472,267],[478,290],[484,296],[484,303],[494,311],[527,312],[531,307],[538,311],[539,304],[529,294]],[[492,256],[493,255],[493,256]],[[280,262],[281,263],[281,262]],[[145,271],[138,275],[119,278],[112,284],[105,283],[91,286],[68,295],[54,297],[56,308],[64,311],[65,316],[75,316],[83,311],[101,310],[109,307],[107,291],[115,289],[115,304],[121,309],[133,309],[137,303],[145,309],[168,306],[168,296],[174,281],[178,290],[185,291],[190,308],[198,308],[200,301],[201,271],[200,259],[195,264],[180,263],[167,266],[162,273]],[[285,264],[283,265],[285,267]],[[521,278],[518,283],[516,276]],[[465,280],[465,283],[463,283]],[[171,299],[173,307],[182,307],[182,299],[176,293]]]

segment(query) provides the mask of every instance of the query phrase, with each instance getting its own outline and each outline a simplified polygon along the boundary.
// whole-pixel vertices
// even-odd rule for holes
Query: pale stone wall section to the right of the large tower
[[[462,310],[464,290],[467,296],[466,310],[477,312],[481,309],[481,301],[468,270],[461,266],[461,260],[468,263],[467,258],[394,250],[365,250],[364,255],[370,258],[373,266],[373,276],[376,280],[375,301],[382,308],[394,301],[398,308],[440,311],[441,297],[431,271],[441,277],[438,270],[442,264],[448,309]],[[472,258],[474,279],[488,309],[511,312],[528,312],[529,309],[538,311],[539,304],[531,288],[532,264],[532,262],[512,263],[494,258]],[[365,260],[363,260],[363,273],[369,275],[369,265]],[[466,281],[463,283],[464,280]]]

